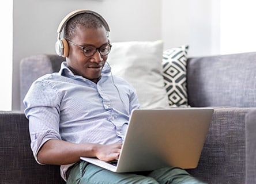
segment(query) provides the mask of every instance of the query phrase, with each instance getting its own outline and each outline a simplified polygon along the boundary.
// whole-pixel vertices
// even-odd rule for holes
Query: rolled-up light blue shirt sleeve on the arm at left
[[[50,83],[37,80],[32,84],[23,102],[24,113],[29,120],[31,149],[39,163],[37,153],[42,145],[50,139],[61,139],[59,135],[60,97]]]

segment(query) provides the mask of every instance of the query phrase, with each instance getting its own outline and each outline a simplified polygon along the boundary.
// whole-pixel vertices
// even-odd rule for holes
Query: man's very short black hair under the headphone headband
[[[99,17],[91,13],[81,13],[67,21],[64,29],[65,39],[71,40],[75,36],[77,25],[85,28],[104,28],[103,22]]]

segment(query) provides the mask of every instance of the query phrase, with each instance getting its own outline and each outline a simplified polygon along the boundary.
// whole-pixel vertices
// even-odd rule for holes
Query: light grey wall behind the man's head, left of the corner
[[[14,0],[13,110],[20,108],[20,60],[55,53],[59,22],[75,9],[92,9],[103,15],[110,25],[111,41],[161,39],[161,1]]]

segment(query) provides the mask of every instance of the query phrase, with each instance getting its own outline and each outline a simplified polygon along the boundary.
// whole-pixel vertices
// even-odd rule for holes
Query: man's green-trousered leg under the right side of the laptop
[[[192,177],[187,171],[178,167],[165,167],[152,171],[147,175],[156,179],[159,183],[173,183],[173,184],[203,184],[204,182]],[[205,184],[205,183],[204,183]]]

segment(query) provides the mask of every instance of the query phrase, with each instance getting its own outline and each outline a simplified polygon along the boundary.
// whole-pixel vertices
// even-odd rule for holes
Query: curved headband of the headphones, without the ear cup
[[[66,25],[66,22],[70,20],[70,18],[76,16],[77,14],[82,14],[82,13],[91,13],[91,14],[95,15],[96,17],[98,17],[101,20],[101,22],[103,23],[104,28],[108,32],[110,32],[110,27],[108,26],[107,21],[104,20],[104,18],[99,13],[92,11],[92,10],[74,10],[74,11],[71,11],[69,14],[67,14],[66,17],[63,18],[63,20],[61,21],[61,23],[58,26],[57,33],[62,32],[62,29]]]

